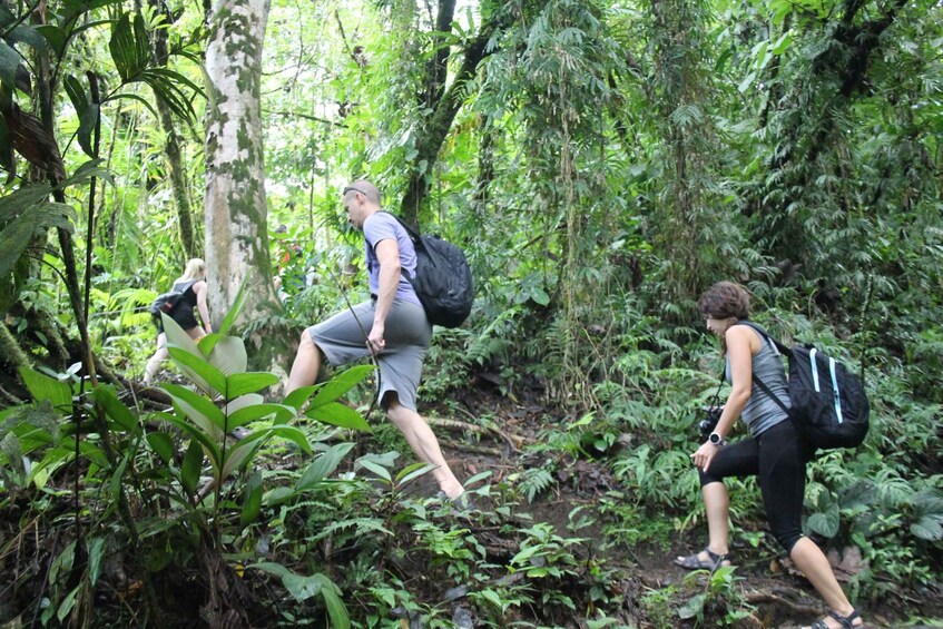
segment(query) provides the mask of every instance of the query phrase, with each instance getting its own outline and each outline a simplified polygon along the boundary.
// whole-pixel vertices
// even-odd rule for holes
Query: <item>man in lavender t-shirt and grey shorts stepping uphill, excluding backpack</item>
[[[432,429],[416,412],[416,389],[432,325],[401,271],[415,273],[412,239],[395,217],[381,212],[380,190],[370,181],[354,181],[344,188],[343,199],[351,224],[363,232],[371,299],[302,334],[287,391],[314,384],[322,358],[340,365],[374,355],[380,365],[377,395],[386,416],[416,456],[433,466],[441,493],[466,507],[464,488],[449,468]]]

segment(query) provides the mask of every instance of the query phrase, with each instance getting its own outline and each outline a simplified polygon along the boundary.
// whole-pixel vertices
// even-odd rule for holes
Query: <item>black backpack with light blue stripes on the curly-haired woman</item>
[[[788,356],[792,409],[786,409],[759,377],[754,375],[753,380],[788,413],[799,432],[822,450],[861,445],[867,435],[871,411],[861,379],[812,345],[790,350],[755,323],[739,323],[759,332],[780,354]]]

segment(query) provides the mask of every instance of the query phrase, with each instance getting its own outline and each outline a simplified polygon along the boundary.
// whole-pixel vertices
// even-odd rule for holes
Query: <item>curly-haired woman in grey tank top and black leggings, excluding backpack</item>
[[[701,295],[698,306],[707,320],[707,330],[720,340],[731,390],[714,432],[691,454],[700,472],[708,544],[700,552],[678,557],[675,563],[689,570],[711,571],[731,564],[730,500],[724,479],[756,475],[773,535],[828,606],[827,616],[816,620],[812,629],[861,627],[861,615],[842,591],[828,559],[803,535],[806,462],[814,456],[815,448],[753,380],[756,374],[785,406],[790,405],[778,351],[750,326],[735,325],[749,318],[749,297],[743,286],[718,282]],[[749,436],[727,444],[726,436],[738,419],[747,425]]]

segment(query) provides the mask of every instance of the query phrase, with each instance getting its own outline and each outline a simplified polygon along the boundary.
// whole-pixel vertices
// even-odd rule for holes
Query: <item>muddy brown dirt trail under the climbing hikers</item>
[[[439,425],[436,432],[443,441],[443,450],[450,465],[460,479],[471,478],[482,471],[490,471],[488,482],[492,485],[507,480],[510,475],[540,465],[544,458],[529,455],[525,445],[536,443],[541,431],[552,422],[557,427],[563,417],[553,417],[538,402],[515,402],[494,393],[471,391],[462,395],[462,402],[469,414],[488,413],[494,417],[501,435],[488,431],[475,433],[479,438],[471,446],[462,441],[456,432],[458,425]],[[434,411],[430,413],[434,420]],[[514,450],[512,444],[522,446]],[[691,578],[689,573],[671,563],[678,554],[687,554],[700,548],[697,532],[674,534],[668,540],[669,549],[660,544],[645,543],[627,548],[620,543],[607,543],[603,525],[597,519],[592,525],[577,533],[568,531],[569,514],[577,507],[592,511],[599,499],[609,489],[619,489],[605,461],[570,460],[558,466],[557,481],[547,492],[540,494],[531,504],[515,505],[527,512],[536,522],[548,522],[560,535],[578,535],[593,540],[592,552],[605,559],[605,564],[618,573],[617,582],[623,596],[619,616],[635,627],[695,627],[694,622],[682,621],[677,613],[666,623],[665,618],[652,618],[650,610],[642,605],[642,597],[654,590],[674,591],[666,606],[677,609],[705,588],[706,576]],[[665,514],[672,518],[675,514]],[[474,530],[474,525],[472,525]],[[705,534],[704,531],[697,533]],[[744,542],[733,540],[736,548],[736,574],[743,580],[737,588],[743,599],[755,611],[728,626],[744,628],[793,628],[809,625],[824,613],[824,605],[817,598],[808,582],[792,566],[788,559],[778,556],[766,544],[752,548]],[[838,558],[833,552],[829,559],[836,568],[839,581],[848,582],[854,572],[861,570],[856,557]],[[674,588],[674,590],[672,590]],[[675,597],[674,599],[671,597]],[[858,601],[858,609],[867,619],[866,627],[926,627],[906,625],[906,618],[920,615],[929,618],[943,618],[943,590],[934,594],[917,594],[905,589],[895,590],[878,601]],[[611,613],[607,609],[608,613]],[[718,623],[721,616],[708,617],[709,626]],[[585,626],[580,619],[573,619],[573,627]],[[940,625],[939,627],[943,627]]]

